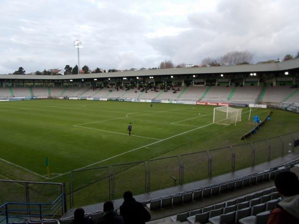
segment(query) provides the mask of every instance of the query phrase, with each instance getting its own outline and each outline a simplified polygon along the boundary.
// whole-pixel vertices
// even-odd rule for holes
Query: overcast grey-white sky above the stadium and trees
[[[0,74],[77,64],[130,69],[200,64],[248,50],[254,62],[299,50],[299,0],[1,0]]]

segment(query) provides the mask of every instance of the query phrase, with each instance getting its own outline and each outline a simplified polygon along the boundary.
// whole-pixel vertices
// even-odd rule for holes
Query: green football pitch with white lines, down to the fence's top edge
[[[78,169],[244,143],[240,138],[253,128],[252,116],[264,119],[270,111],[272,119],[245,142],[298,130],[299,114],[252,109],[248,120],[249,109],[244,108],[237,126],[220,125],[213,124],[213,108],[86,100],[1,102],[0,179],[69,182],[71,171]]]

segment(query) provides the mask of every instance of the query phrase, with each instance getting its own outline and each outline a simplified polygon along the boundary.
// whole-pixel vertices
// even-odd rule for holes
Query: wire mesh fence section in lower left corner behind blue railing
[[[0,223],[8,218],[51,219],[67,210],[64,183],[0,180]]]

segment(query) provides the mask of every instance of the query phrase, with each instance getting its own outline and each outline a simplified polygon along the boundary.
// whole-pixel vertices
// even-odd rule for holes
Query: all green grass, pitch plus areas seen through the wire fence
[[[75,206],[82,206],[108,199],[109,166],[116,173],[115,197],[121,197],[124,190],[144,193],[144,163],[112,165],[222,148],[298,130],[299,114],[271,110],[272,119],[258,134],[248,140],[240,140],[245,132],[253,128],[252,119],[248,121],[249,109],[243,109],[242,121],[237,126],[224,126],[212,124],[213,107],[209,106],[154,104],[150,109],[149,103],[131,102],[1,102],[0,178],[68,184],[72,170],[106,167],[73,173]],[[260,115],[263,119],[271,110],[255,109],[251,115]],[[132,136],[127,131],[129,122],[133,125]],[[281,153],[279,149],[275,150],[277,139],[272,141],[273,159]],[[288,141],[286,139],[286,144]],[[261,150],[257,149],[256,164],[267,160],[264,146],[263,143],[257,145]],[[210,151],[213,176],[230,171],[229,150]],[[249,147],[236,146],[234,150],[236,169],[251,166]],[[46,157],[49,158],[50,180],[45,178]],[[181,159],[184,161],[184,183],[207,178],[206,152],[184,155]],[[151,191],[173,186],[169,177],[178,177],[177,157],[152,160],[146,166],[150,167]],[[36,195],[47,195],[44,189],[32,190]],[[21,190],[16,191],[22,193]],[[9,194],[3,193],[1,202],[12,200]],[[37,201],[42,197],[33,198]]]

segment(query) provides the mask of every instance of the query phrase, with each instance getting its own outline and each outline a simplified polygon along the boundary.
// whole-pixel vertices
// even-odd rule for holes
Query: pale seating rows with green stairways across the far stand
[[[299,104],[299,92],[291,86],[268,87],[261,97],[262,87],[184,87],[181,91],[148,90],[141,92],[135,89],[99,88],[0,88],[0,98],[13,97],[99,97],[99,98],[138,98],[150,100],[202,101],[236,104]],[[31,92],[30,92],[31,91]],[[233,92],[233,93],[232,93]]]

